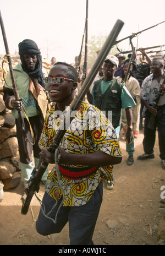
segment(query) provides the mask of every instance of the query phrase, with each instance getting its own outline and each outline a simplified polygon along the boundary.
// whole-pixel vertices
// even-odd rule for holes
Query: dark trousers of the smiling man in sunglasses
[[[47,219],[40,209],[36,222],[37,232],[43,236],[59,233],[69,221],[70,245],[93,245],[92,236],[102,203],[102,195],[103,188],[101,181],[94,194],[85,205],[62,206],[58,212],[56,224],[54,224],[52,220]],[[46,213],[49,213],[56,201],[45,192],[42,203],[45,205]],[[58,205],[49,215],[53,219],[55,219],[60,203],[61,200],[59,200]]]

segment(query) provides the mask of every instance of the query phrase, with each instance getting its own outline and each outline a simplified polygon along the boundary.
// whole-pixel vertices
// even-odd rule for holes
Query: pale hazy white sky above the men
[[[80,53],[86,17],[86,0],[1,0],[1,14],[9,51],[18,51],[18,43],[34,40],[42,57],[74,62]],[[88,39],[108,35],[118,19],[124,22],[118,40],[161,23],[164,0],[89,0]],[[144,31],[133,39],[134,46],[151,47],[165,44],[165,23]],[[119,43],[123,51],[131,50],[129,40]],[[163,47],[164,49],[164,47]],[[158,49],[157,49],[158,50]],[[5,53],[2,32],[0,54]]]

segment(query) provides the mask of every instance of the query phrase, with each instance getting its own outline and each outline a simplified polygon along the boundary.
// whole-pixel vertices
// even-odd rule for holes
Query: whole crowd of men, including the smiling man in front
[[[83,83],[81,68],[77,72],[72,65],[57,62],[53,57],[52,68],[47,74],[42,68],[41,52],[36,43],[28,39],[19,43],[21,63],[13,68],[19,100],[15,99],[10,73],[3,87],[3,99],[12,110],[17,126],[24,186],[34,167],[38,170],[42,161],[53,164],[51,172],[47,168],[42,177],[46,189],[36,222],[36,230],[41,235],[61,232],[69,221],[70,244],[94,244],[92,236],[102,203],[103,182],[107,189],[113,189],[113,168],[122,162],[121,130],[125,134],[127,164],[132,165],[134,138],[138,139],[143,119],[144,154],[138,160],[155,157],[153,147],[157,129],[160,159],[165,169],[164,60],[151,60],[144,50],[140,51],[143,56],[140,64],[136,53],[133,59],[121,53],[107,56],[98,79],[87,91],[87,100],[81,103],[58,149],[50,152],[48,147],[63,122],[62,116],[56,113],[67,115],[78,83]],[[41,98],[47,102],[47,112],[42,111]],[[30,143],[30,154],[34,156],[35,166],[26,155],[19,110],[24,110],[28,141],[33,139],[31,129],[34,133],[35,143]],[[81,125],[75,128],[82,124],[86,112],[89,113],[86,129]],[[92,129],[91,116],[95,116]]]

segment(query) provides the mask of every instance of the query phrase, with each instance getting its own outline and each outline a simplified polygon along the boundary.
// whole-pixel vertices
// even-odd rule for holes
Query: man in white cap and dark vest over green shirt
[[[126,141],[129,144],[133,141],[131,107],[135,106],[136,103],[127,90],[124,81],[119,81],[114,77],[118,63],[119,61],[116,56],[107,56],[103,63],[104,77],[95,81],[91,94],[90,91],[87,91],[87,100],[90,104],[95,105],[101,111],[105,112],[107,118],[112,117],[110,121],[116,130],[117,138],[119,138],[120,133],[121,110],[125,108],[128,123]],[[127,164],[130,165],[133,163],[127,161]],[[106,181],[106,187],[112,189],[113,186],[112,177],[111,181]]]

